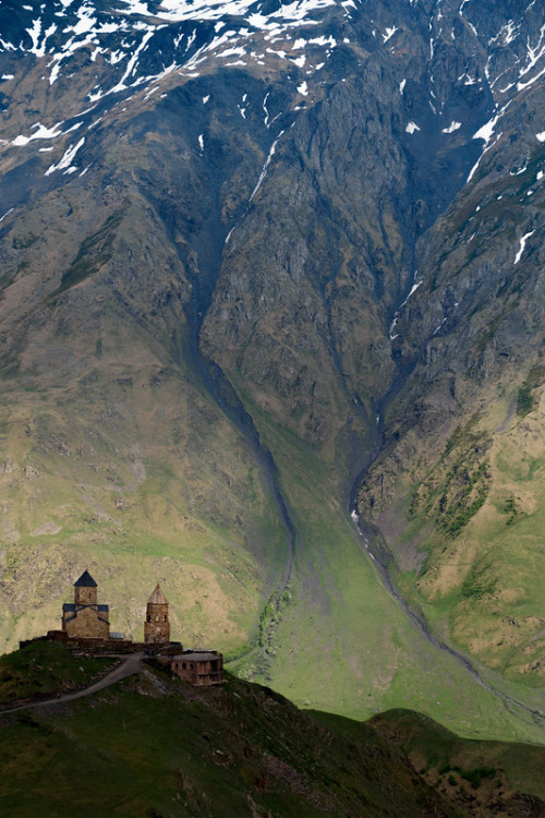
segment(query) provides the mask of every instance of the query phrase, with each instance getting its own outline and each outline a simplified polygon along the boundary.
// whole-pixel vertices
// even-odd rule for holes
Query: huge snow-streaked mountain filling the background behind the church
[[[542,741],[540,4],[0,32],[5,648],[88,565],[299,703]]]

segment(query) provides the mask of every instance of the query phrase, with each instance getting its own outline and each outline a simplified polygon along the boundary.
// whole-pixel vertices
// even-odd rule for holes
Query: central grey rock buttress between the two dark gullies
[[[377,304],[376,294],[396,290],[402,275],[402,242],[388,205],[365,230],[359,224],[368,195],[358,172],[364,130],[354,97],[362,88],[336,86],[278,139],[270,169],[230,237],[202,334],[206,354],[230,373],[238,366],[245,388],[255,384],[267,396],[272,417],[291,417],[300,436],[318,444],[335,441],[342,413],[355,414],[353,395],[366,397],[380,389],[380,378],[387,383],[388,370],[379,372],[377,362],[388,296]],[[346,128],[354,134],[347,166],[338,158]],[[390,143],[386,153],[393,168],[399,151]],[[375,190],[380,158],[367,161]],[[385,199],[399,199],[396,175],[391,187]],[[356,326],[356,299],[366,302],[365,327]],[[337,406],[342,395],[344,410]]]

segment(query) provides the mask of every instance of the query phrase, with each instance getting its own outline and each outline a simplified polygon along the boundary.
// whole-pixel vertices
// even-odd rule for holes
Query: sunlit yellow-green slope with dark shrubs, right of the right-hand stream
[[[496,395],[377,516],[395,581],[462,651],[529,689],[545,678],[541,584],[545,409],[534,384]]]

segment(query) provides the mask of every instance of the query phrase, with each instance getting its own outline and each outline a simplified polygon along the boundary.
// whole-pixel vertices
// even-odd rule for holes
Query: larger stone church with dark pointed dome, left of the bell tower
[[[70,638],[110,638],[109,608],[98,604],[97,593],[97,584],[84,570],[74,582],[74,601],[62,605],[62,630]]]

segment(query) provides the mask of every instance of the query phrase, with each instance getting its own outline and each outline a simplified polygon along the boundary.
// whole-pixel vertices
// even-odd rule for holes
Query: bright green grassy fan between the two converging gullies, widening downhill
[[[266,442],[296,520],[295,564],[265,654],[239,660],[235,672],[272,681],[298,705],[355,719],[403,706],[463,735],[543,742],[529,712],[504,703],[432,645],[385,590],[334,500],[335,471],[286,431],[267,426]],[[500,678],[483,673],[501,689]],[[507,693],[528,698],[517,685]]]

